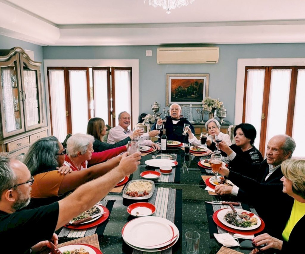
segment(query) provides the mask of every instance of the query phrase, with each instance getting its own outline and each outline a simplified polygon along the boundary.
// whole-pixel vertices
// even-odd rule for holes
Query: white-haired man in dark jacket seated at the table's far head
[[[166,129],[167,140],[175,140],[179,142],[188,142],[188,134],[183,134],[184,124],[189,124],[189,128],[192,133],[195,134],[195,129],[192,124],[186,120],[184,117],[180,117],[181,115],[181,107],[179,104],[174,103],[170,105],[170,116],[166,116],[166,122],[163,123],[162,119],[158,119],[156,123],[152,125],[152,130],[156,130],[156,125],[164,124],[164,128]]]

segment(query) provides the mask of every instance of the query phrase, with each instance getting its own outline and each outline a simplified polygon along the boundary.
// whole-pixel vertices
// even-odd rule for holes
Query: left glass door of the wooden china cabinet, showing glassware
[[[24,132],[19,54],[0,62],[2,138]]]

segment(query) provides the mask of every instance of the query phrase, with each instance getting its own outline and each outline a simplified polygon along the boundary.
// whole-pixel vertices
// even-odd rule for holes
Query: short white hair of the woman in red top
[[[87,152],[88,145],[94,143],[94,137],[88,134],[76,133],[67,140],[67,150],[71,157],[77,157],[77,153]]]

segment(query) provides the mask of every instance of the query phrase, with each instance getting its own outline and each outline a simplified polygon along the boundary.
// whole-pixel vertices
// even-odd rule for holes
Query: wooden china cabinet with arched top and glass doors
[[[47,136],[40,65],[20,47],[0,50],[0,152],[24,154]]]

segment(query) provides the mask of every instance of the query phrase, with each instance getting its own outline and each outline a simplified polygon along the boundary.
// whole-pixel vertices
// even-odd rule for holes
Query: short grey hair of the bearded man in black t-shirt
[[[10,160],[11,158],[8,156],[0,156],[0,194],[17,182],[17,176],[10,167]]]

